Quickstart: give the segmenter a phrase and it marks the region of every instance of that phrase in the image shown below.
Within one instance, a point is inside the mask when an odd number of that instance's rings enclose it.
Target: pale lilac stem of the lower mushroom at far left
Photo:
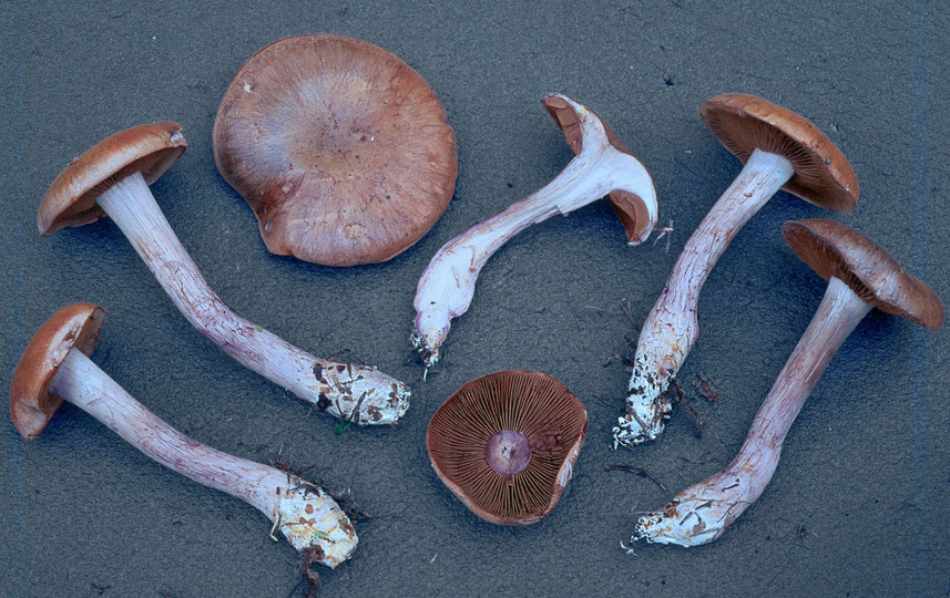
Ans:
[[[336,567],[356,548],[356,532],[349,518],[323,489],[185,436],[135,401],[81,351],[70,350],[50,391],[162,465],[247,502],[308,558]]]

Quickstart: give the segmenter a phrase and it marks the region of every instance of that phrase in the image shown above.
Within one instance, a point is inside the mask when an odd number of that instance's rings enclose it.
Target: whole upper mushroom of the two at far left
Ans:
[[[123,131],[53,181],[37,217],[43,236],[109,215],[187,320],[227,354],[318,409],[359,425],[394,423],[409,390],[372,367],[316,358],[237,316],[208,287],[149,184],[185,151],[177,123]]]

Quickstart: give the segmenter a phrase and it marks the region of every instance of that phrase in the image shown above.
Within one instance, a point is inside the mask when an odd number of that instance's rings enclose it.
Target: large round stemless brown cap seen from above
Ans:
[[[267,249],[327,266],[402,252],[446,210],[458,174],[432,89],[391,52],[341,35],[254,54],[224,94],[213,146]]]

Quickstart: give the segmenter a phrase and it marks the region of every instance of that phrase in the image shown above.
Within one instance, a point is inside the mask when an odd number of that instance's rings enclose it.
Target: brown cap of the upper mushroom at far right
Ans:
[[[854,168],[818,127],[798,114],[755,95],[726,93],[699,104],[699,115],[743,163],[756,148],[791,162],[795,174],[784,190],[834,212],[855,210]]]

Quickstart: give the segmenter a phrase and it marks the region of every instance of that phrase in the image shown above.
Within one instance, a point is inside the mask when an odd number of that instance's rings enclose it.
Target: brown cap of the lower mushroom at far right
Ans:
[[[937,330],[943,324],[937,293],[854,228],[815,218],[785,223],[782,234],[795,255],[825,280],[835,277],[868,303],[920,326]]]

